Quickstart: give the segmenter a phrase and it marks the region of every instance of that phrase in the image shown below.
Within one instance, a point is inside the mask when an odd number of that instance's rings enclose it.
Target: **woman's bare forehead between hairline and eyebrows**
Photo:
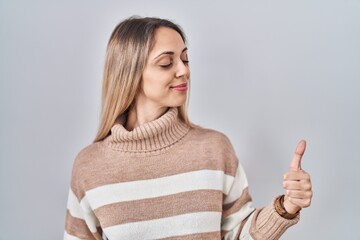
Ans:
[[[159,27],[155,30],[154,45],[150,55],[163,51],[181,52],[185,43],[180,34],[172,28]]]

